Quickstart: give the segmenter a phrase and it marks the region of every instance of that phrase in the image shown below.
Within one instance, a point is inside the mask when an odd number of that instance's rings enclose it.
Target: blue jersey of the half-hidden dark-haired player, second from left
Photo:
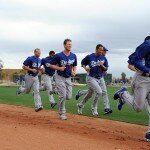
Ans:
[[[55,70],[50,68],[52,57],[48,56],[42,59],[42,65],[45,68],[45,74],[49,76],[53,76],[55,74]]]

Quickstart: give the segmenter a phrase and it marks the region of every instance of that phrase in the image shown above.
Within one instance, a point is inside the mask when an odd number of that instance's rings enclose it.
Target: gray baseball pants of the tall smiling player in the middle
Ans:
[[[71,77],[65,78],[58,74],[55,76],[57,92],[59,95],[59,114],[66,113],[65,101],[72,97]]]

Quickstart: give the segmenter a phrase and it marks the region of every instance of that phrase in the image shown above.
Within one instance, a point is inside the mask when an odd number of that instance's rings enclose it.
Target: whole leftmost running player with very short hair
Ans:
[[[23,69],[27,71],[25,75],[25,87],[19,87],[16,91],[16,94],[21,93],[28,94],[33,88],[34,91],[34,104],[35,111],[38,112],[43,109],[41,96],[39,94],[39,78],[38,73],[41,69],[41,55],[40,49],[36,48],[34,50],[34,56],[28,57],[23,63]]]

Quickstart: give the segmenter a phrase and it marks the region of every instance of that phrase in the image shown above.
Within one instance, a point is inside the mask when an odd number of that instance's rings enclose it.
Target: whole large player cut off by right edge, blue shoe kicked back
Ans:
[[[132,95],[123,87],[114,94],[114,100],[118,100],[119,110],[127,103],[136,112],[140,112],[146,105],[149,128],[145,140],[150,141],[150,36],[146,37],[145,41],[136,48],[128,62],[128,67],[136,71],[132,81]]]

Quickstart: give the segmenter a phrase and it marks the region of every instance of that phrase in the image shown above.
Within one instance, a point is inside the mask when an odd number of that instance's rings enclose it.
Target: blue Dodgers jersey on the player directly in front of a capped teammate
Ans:
[[[87,55],[81,62],[83,66],[89,66],[90,72],[89,76],[100,79],[104,76],[104,71],[100,68],[100,62],[104,62],[104,66],[108,68],[108,61],[105,56],[96,56],[95,53]]]

